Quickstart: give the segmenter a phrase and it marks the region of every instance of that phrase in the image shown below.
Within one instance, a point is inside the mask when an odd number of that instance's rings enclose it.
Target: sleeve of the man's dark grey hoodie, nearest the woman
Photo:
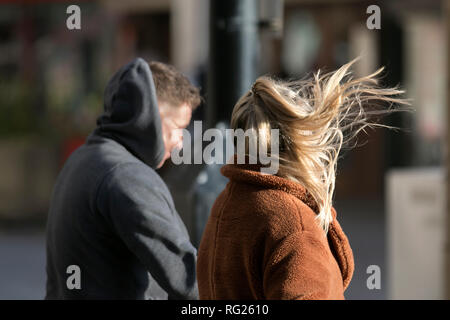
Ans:
[[[198,299],[196,249],[152,169],[143,164],[113,169],[99,186],[97,208],[169,299]]]

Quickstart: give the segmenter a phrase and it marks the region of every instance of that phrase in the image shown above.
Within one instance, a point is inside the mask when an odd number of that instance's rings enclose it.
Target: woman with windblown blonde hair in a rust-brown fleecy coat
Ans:
[[[353,63],[307,80],[260,77],[235,105],[231,127],[254,130],[269,153],[279,133],[279,169],[222,167],[230,181],[198,251],[201,299],[344,299],[354,260],[332,206],[339,152],[406,104],[378,85],[382,69],[354,79]]]

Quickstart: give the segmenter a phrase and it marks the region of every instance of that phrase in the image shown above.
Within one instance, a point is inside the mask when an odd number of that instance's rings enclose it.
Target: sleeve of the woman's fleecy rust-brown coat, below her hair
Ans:
[[[298,231],[279,241],[264,268],[267,299],[325,299],[330,289],[326,249],[317,235]]]

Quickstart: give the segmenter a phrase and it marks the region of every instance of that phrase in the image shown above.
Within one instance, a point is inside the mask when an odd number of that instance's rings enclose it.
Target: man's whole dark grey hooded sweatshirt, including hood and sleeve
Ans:
[[[69,157],[47,222],[46,299],[197,299],[196,249],[167,186],[147,62],[122,67],[104,113]]]

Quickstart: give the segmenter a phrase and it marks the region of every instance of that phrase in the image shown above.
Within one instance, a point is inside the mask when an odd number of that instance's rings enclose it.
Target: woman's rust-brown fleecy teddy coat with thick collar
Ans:
[[[353,253],[336,220],[325,232],[303,186],[225,165],[230,179],[214,203],[198,251],[200,299],[344,299]]]

